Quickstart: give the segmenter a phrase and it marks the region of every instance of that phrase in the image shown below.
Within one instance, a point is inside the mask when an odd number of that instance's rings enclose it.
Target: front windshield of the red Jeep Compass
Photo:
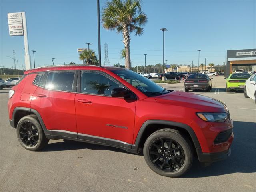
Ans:
[[[155,96],[166,94],[170,91],[162,88],[158,84],[148,80],[147,78],[133,72],[131,70],[112,70],[114,74],[117,74],[122,79],[126,80],[140,92],[144,93],[146,96]]]

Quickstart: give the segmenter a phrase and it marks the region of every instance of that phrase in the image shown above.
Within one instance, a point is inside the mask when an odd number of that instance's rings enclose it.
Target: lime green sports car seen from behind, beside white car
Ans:
[[[232,90],[244,90],[246,80],[250,78],[248,73],[233,73],[228,76],[226,81],[226,92]]]

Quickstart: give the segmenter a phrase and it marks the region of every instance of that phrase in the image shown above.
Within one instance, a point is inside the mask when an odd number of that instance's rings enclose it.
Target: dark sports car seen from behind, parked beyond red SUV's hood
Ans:
[[[205,74],[192,74],[185,80],[185,91],[188,90],[207,90],[212,89],[212,78]]]

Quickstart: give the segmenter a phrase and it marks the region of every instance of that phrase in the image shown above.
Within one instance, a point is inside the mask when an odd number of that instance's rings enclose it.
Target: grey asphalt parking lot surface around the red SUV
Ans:
[[[184,91],[183,82],[162,86]],[[231,156],[205,168],[194,159],[182,178],[160,176],[141,154],[112,147],[50,140],[39,152],[25,150],[9,124],[9,89],[0,90],[0,191],[256,191],[256,105],[243,92],[226,93],[223,76],[214,77],[211,92],[193,92],[228,106]]]

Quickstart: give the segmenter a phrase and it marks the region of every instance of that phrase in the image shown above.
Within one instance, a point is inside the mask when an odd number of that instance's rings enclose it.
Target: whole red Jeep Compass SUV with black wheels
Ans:
[[[48,66],[28,70],[9,92],[10,124],[20,144],[83,141],[139,153],[156,173],[178,177],[193,156],[212,163],[230,155],[233,122],[218,100],[166,90],[123,68]]]

